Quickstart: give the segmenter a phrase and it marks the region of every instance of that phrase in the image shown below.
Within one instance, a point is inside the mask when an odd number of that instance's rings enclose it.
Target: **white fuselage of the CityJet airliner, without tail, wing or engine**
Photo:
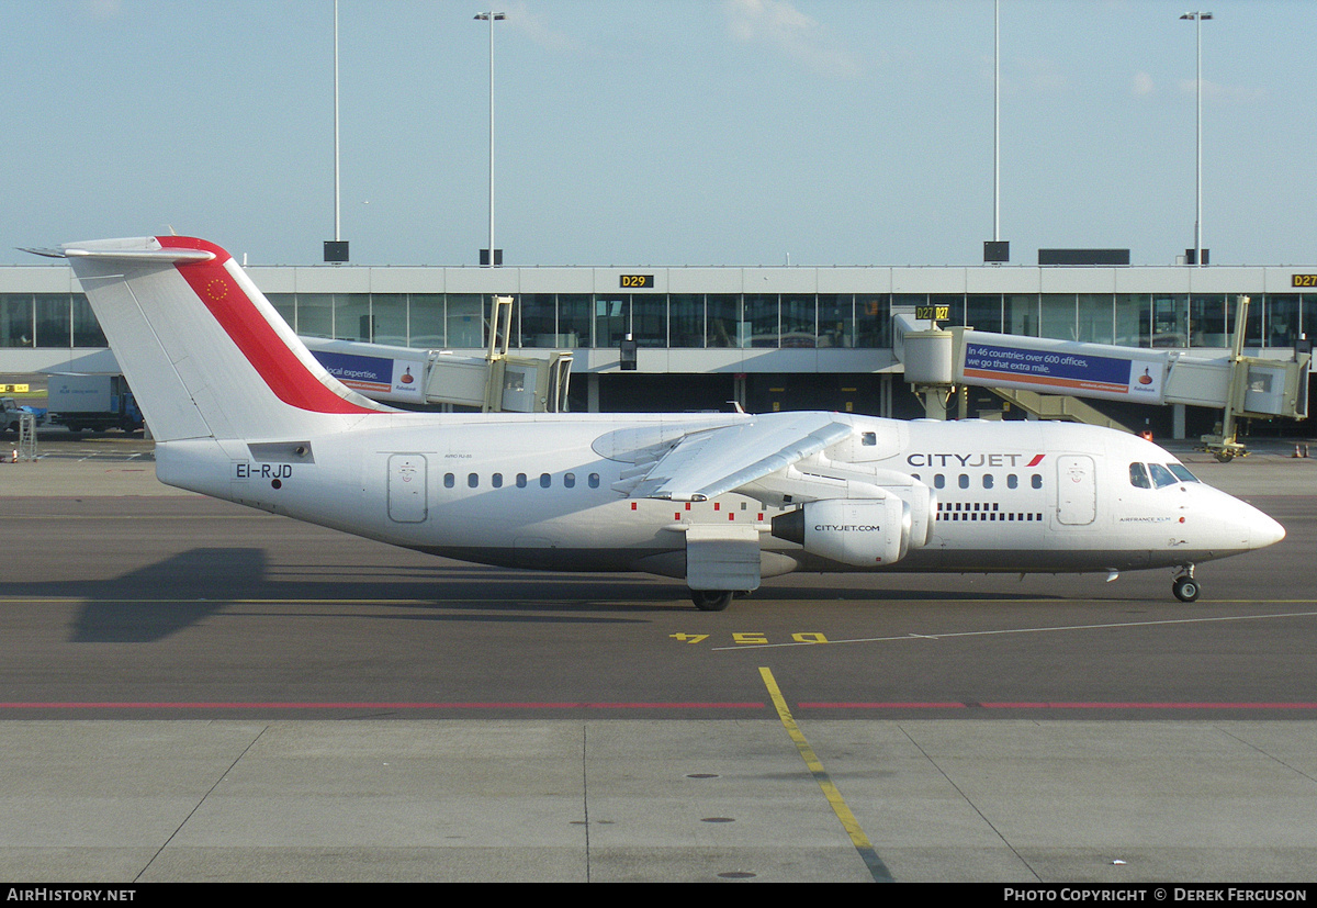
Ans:
[[[1283,535],[1250,505],[1169,473],[1183,470],[1179,461],[1134,436],[1062,423],[834,418],[853,435],[827,449],[822,472],[906,474],[935,497],[927,542],[876,569],[1129,571],[1223,557]],[[681,502],[618,490],[633,451],[744,419],[371,414],[321,438],[161,443],[157,460],[171,485],[465,561],[685,576],[684,531],[710,525],[760,531],[764,576],[857,569],[772,535],[773,518],[799,499]]]

